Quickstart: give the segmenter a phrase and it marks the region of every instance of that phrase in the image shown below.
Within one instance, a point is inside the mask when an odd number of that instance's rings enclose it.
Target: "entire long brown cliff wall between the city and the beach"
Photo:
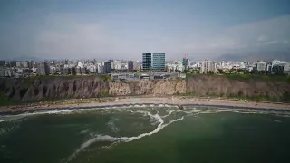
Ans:
[[[188,80],[140,80],[110,82],[98,77],[50,77],[0,79],[0,102],[43,101],[120,95],[222,96],[289,101],[290,84],[269,79],[230,79],[226,76],[197,75]]]

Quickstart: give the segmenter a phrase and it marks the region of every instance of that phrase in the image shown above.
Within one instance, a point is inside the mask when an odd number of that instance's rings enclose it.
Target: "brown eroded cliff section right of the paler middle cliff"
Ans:
[[[187,92],[200,96],[260,96],[279,100],[290,93],[290,84],[263,79],[233,80],[225,76],[198,75],[189,78]]]

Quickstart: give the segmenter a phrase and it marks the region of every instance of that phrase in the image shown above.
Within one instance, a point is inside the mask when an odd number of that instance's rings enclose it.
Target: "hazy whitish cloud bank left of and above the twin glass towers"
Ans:
[[[53,58],[140,59],[143,52],[177,52],[179,39],[123,28],[111,21],[75,21],[74,15],[50,15],[48,27],[36,34],[34,53]],[[120,20],[117,20],[120,23]],[[69,24],[69,25],[68,25]]]

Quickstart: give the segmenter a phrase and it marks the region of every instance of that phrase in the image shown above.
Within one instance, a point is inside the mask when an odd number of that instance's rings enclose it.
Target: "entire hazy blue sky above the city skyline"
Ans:
[[[146,52],[290,55],[290,1],[0,1],[0,59],[140,60]]]

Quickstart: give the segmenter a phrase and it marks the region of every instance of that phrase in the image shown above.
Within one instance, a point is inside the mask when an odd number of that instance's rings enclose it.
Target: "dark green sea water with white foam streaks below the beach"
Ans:
[[[290,118],[200,110],[143,107],[11,117],[0,122],[0,162],[290,162]]]

